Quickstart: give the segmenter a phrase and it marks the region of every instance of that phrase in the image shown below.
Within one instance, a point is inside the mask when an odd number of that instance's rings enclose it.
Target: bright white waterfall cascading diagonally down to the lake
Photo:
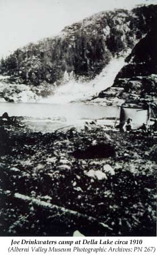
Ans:
[[[97,96],[101,90],[107,89],[113,85],[113,81],[125,64],[125,57],[114,58],[103,69],[103,71],[91,81],[76,81],[71,77],[66,84],[58,86],[54,95],[48,98],[42,98],[41,103],[66,104],[71,101],[88,100]]]

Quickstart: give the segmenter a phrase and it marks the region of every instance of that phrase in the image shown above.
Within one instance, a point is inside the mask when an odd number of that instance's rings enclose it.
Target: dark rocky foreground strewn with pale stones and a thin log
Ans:
[[[1,124],[1,235],[156,236],[157,138],[85,128]]]

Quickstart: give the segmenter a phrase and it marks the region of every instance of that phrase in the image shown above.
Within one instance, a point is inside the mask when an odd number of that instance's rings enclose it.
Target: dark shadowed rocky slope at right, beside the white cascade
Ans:
[[[99,94],[100,98],[124,99],[157,96],[157,35],[151,30],[135,45],[126,58],[126,65],[117,74],[112,88]]]

